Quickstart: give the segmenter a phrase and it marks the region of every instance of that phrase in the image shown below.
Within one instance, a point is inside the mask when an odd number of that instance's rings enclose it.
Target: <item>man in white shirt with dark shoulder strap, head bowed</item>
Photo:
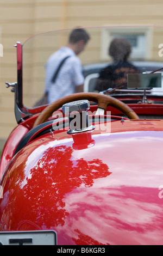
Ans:
[[[90,36],[85,29],[75,28],[69,35],[67,45],[49,57],[45,66],[45,95],[48,103],[66,95],[83,92],[82,63],[77,56],[84,51],[89,40]]]

